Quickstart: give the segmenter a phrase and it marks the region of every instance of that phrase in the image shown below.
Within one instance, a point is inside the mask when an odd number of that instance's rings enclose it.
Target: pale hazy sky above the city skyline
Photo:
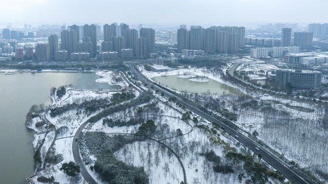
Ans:
[[[326,0],[0,0],[7,24],[325,22]]]

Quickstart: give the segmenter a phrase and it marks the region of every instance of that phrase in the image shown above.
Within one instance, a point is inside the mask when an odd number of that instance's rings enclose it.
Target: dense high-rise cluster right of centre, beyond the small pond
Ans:
[[[182,50],[203,50],[206,54],[236,53],[245,45],[245,27],[191,26],[182,25],[178,30],[178,52]]]

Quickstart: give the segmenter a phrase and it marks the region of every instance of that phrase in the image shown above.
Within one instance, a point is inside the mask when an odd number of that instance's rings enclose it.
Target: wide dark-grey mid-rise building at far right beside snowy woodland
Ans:
[[[280,69],[276,70],[276,84],[285,87],[287,83],[294,88],[317,88],[321,85],[321,72]]]

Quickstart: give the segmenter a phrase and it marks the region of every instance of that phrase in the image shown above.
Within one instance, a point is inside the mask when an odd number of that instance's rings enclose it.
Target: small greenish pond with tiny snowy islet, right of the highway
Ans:
[[[177,75],[157,76],[154,81],[177,91],[187,91],[188,93],[210,94],[210,95],[242,95],[238,89],[226,84],[208,79],[208,82],[189,81],[187,78],[180,78]]]

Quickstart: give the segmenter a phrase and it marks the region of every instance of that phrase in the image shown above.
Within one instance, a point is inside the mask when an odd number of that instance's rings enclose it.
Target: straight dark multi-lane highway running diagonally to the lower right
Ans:
[[[136,70],[136,68],[132,64],[130,64],[130,69],[131,69],[132,73],[135,73],[137,75],[138,79],[141,82],[147,83],[148,86],[153,85],[153,82],[151,82],[149,79],[145,78],[138,70]],[[213,117],[211,114],[208,114],[207,112],[204,112],[203,110],[195,107],[190,102],[180,98],[177,95],[174,95],[174,94],[170,93],[170,91],[168,91],[166,89],[163,89],[162,87],[159,87],[157,85],[158,84],[154,85],[154,89],[159,90],[160,93],[164,93],[164,95],[166,97],[168,97],[168,98],[175,97],[177,99],[177,101],[180,104],[184,105],[187,109],[199,114],[200,116],[202,116],[203,118],[205,118],[209,122],[219,123],[220,126],[224,126],[225,131],[227,131],[227,133],[231,133],[232,136],[235,137],[235,135],[237,135],[238,136],[238,139],[236,139],[237,141],[239,141],[244,146],[251,149],[254,153],[261,154],[262,159],[265,160],[265,162],[267,162],[273,168],[275,168],[276,170],[281,172],[287,179],[294,180],[296,183],[311,183],[310,181],[307,181],[306,178],[303,178],[300,175],[300,173],[298,173],[293,168],[286,165],[277,156],[275,156],[274,154],[267,151],[263,146],[259,145],[254,140],[252,140],[249,137],[245,136],[243,133],[240,133],[241,131],[239,132],[236,128],[232,127],[231,125],[222,122],[221,120]],[[256,147],[259,148],[259,151],[255,149]]]

